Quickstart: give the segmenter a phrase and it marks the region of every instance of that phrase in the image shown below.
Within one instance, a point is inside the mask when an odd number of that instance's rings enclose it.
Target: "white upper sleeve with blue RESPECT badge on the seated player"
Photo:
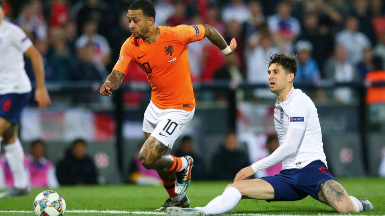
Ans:
[[[293,105],[293,104],[292,104]],[[305,129],[307,118],[310,114],[310,106],[307,101],[301,103],[301,105],[294,104],[295,106],[289,111],[289,126],[288,128]]]

